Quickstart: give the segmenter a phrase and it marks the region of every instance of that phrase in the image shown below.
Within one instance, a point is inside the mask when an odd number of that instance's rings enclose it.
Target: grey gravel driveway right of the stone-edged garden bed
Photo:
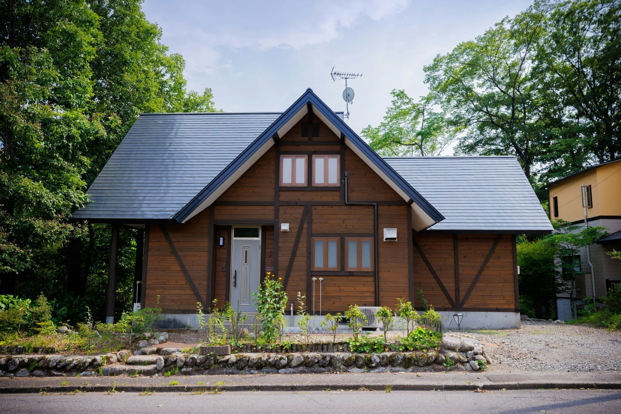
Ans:
[[[521,329],[468,331],[495,360],[490,371],[621,371],[621,332],[522,321]]]

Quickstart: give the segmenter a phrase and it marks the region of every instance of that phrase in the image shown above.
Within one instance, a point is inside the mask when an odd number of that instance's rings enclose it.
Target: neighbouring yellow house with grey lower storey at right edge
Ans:
[[[582,186],[586,187],[586,220],[589,226],[607,228],[609,236],[590,246],[591,263],[595,275],[595,295],[601,299],[613,284],[621,284],[621,260],[612,259],[606,251],[621,250],[621,159],[597,164],[576,174],[548,184],[550,219],[559,218],[573,224],[584,223]],[[587,263],[586,249],[580,254],[581,274],[576,279],[575,297],[592,296],[591,267]],[[568,295],[559,295],[560,299]],[[564,313],[559,305],[559,317]],[[566,305],[568,307],[568,304]]]

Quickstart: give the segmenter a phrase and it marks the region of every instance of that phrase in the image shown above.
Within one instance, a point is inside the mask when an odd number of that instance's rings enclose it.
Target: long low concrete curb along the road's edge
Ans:
[[[468,391],[468,390],[527,390],[527,389],[621,389],[621,382],[496,382],[492,384],[235,384],[235,385],[47,385],[42,387],[0,387],[0,394],[70,393],[75,392],[209,392],[219,389],[234,391],[322,391],[369,390],[384,391]]]

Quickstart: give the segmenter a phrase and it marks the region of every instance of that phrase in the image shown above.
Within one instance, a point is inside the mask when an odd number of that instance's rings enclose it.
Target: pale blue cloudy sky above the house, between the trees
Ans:
[[[378,125],[392,89],[427,94],[423,66],[474,39],[532,0],[206,1],[145,0],[161,42],[186,60],[188,88],[211,88],[226,112],[283,111],[305,90],[345,110],[345,81],[362,73],[348,124]],[[449,148],[448,154],[452,151]]]

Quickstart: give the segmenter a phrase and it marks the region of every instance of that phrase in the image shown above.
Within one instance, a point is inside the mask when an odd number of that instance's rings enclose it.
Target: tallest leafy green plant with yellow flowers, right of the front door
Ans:
[[[267,343],[275,343],[283,336],[284,310],[287,307],[287,294],[281,278],[276,279],[268,272],[263,284],[252,295],[258,312],[257,318],[262,325],[263,338]]]

